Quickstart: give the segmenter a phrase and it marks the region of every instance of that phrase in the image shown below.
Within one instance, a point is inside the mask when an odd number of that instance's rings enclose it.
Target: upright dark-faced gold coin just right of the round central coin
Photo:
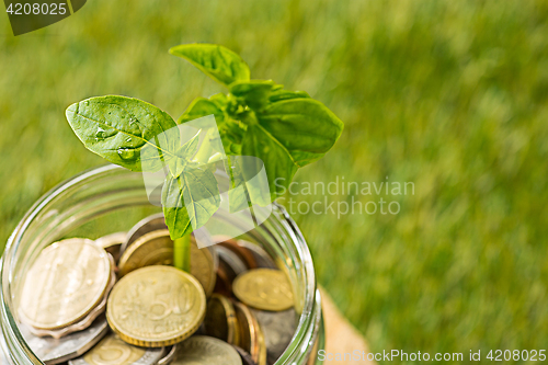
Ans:
[[[226,297],[214,294],[207,301],[207,311],[204,319],[206,334],[228,342],[239,343],[239,331],[232,303]]]

